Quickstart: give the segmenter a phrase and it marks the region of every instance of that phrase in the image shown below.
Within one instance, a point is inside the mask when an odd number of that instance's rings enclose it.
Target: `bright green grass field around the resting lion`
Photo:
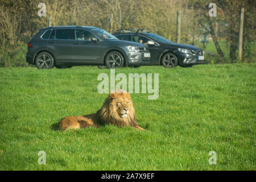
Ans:
[[[53,131],[68,115],[95,113],[107,94],[99,73],[73,67],[0,68],[0,170],[255,170],[256,64],[122,68],[159,73],[159,98],[131,94],[130,127]],[[46,152],[46,165],[38,152]],[[217,164],[208,155],[216,151]]]

